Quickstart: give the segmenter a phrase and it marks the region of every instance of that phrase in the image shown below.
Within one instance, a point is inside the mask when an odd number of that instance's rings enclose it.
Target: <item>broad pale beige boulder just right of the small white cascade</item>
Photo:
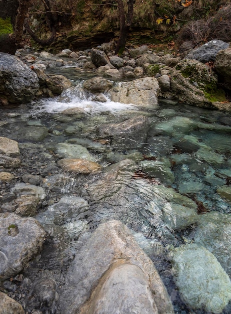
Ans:
[[[112,87],[109,91],[112,101],[140,106],[150,106],[155,109],[158,105],[160,88],[154,77],[144,77],[131,82],[123,82]]]

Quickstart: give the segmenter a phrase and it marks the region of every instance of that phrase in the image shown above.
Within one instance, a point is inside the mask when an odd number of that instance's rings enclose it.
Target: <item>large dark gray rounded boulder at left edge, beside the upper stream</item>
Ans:
[[[39,89],[37,75],[15,56],[0,53],[0,98],[28,102]]]

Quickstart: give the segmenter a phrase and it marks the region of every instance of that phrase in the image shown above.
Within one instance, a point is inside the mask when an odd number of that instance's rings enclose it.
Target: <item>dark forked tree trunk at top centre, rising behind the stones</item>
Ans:
[[[134,0],[128,0],[128,9],[127,9],[126,19],[125,19],[125,12],[124,12],[124,6],[123,6],[122,0],[117,0],[117,3],[118,3],[118,11],[119,11],[120,34],[119,34],[117,46],[115,48],[115,54],[120,55],[124,51],[128,31],[132,23]]]

